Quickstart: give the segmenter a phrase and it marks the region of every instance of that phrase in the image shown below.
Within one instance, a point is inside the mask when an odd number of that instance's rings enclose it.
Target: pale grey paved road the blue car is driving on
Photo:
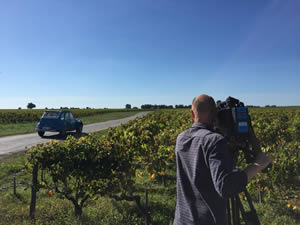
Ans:
[[[102,123],[84,125],[83,133],[87,134],[95,131],[105,130],[109,127],[115,127],[122,123],[126,123],[129,120],[133,120],[137,117],[142,117],[147,113],[148,112],[141,112],[135,116],[131,116],[119,120],[110,120]],[[44,138],[40,138],[37,133],[2,137],[0,138],[0,158],[6,157],[16,152],[25,151],[25,146],[31,147],[38,143],[45,143],[50,139],[61,140],[59,135],[57,135],[56,133],[48,133],[48,134],[46,133]]]

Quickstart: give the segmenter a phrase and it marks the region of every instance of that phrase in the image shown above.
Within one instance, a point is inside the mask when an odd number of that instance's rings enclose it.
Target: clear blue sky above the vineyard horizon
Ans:
[[[0,0],[0,108],[300,105],[298,0]]]

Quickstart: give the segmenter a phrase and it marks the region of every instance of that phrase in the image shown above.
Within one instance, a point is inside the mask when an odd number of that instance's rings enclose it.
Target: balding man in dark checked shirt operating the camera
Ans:
[[[261,152],[246,169],[234,170],[225,138],[213,130],[217,114],[214,99],[204,94],[195,97],[191,113],[193,126],[176,141],[174,225],[226,225],[227,200],[242,192],[272,160]]]

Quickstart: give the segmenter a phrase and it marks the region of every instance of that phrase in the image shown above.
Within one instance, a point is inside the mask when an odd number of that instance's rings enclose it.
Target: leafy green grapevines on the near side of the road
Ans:
[[[292,221],[287,224],[296,224],[300,221],[300,109],[253,108],[250,115],[262,149],[274,164],[267,173],[255,177],[248,190],[254,202],[264,205],[262,208],[278,208],[280,204],[279,208],[285,209],[283,216]],[[89,206],[105,198],[135,206],[129,222],[123,218],[122,224],[172,224],[176,201],[174,147],[177,135],[192,123],[188,110],[160,110],[109,129],[102,136],[69,137],[64,142],[32,147],[26,153],[26,168],[32,174],[28,214],[39,217],[37,196],[46,190],[52,199],[69,201],[76,216],[85,215]],[[241,168],[245,165],[240,161]],[[158,203],[148,202],[148,191],[155,192],[151,188],[157,184],[160,190],[172,190],[167,209],[155,209]],[[274,215],[279,217],[275,209]],[[262,224],[280,224],[276,216],[263,219]]]

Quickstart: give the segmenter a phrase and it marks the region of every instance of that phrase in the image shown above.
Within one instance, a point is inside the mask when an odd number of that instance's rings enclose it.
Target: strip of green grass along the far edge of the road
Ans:
[[[94,116],[78,118],[82,120],[83,125],[91,123],[105,122],[109,120],[122,119],[130,116],[134,116],[140,111],[129,111],[129,112],[109,112]],[[33,123],[14,123],[14,124],[0,124],[0,137],[17,135],[17,134],[28,134],[33,133],[36,126],[36,122]]]

